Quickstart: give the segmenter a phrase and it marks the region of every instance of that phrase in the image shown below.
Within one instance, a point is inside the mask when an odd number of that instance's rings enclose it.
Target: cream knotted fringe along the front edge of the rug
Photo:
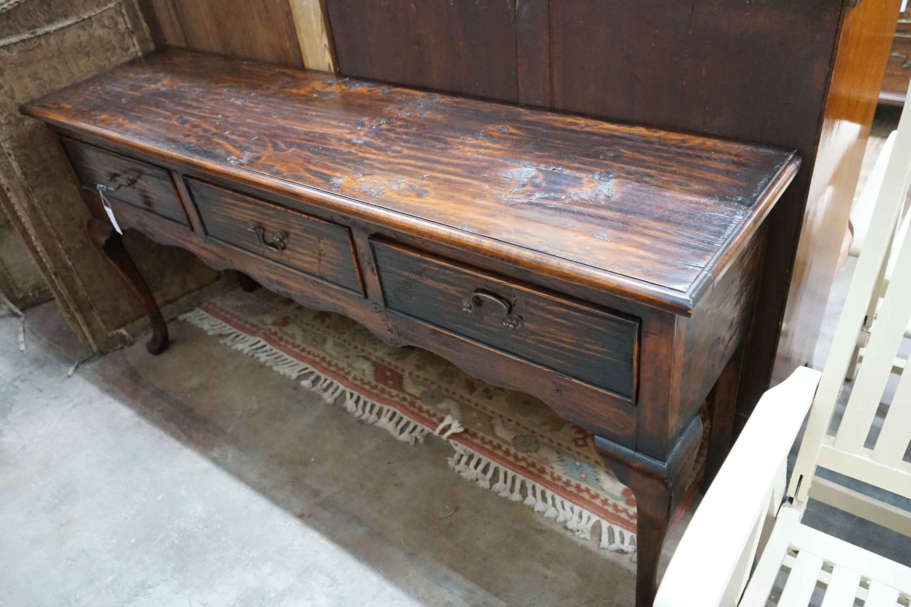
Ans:
[[[307,363],[271,346],[265,339],[235,329],[201,309],[193,309],[181,314],[179,319],[189,322],[209,335],[222,337],[221,343],[259,360],[281,375],[291,379],[302,378],[301,385],[304,388],[320,394],[327,402],[333,402],[343,396],[344,409],[355,419],[384,428],[398,440],[415,444],[415,442],[424,442],[428,434],[448,440],[456,432],[465,430],[462,423],[451,415],[447,415],[445,420],[431,430],[394,407],[369,399],[353,389],[345,388],[335,379],[313,369]],[[600,548],[618,552],[636,551],[635,533],[621,529],[584,508],[564,500],[537,482],[495,463],[455,440],[449,440],[449,444],[455,449],[455,454],[448,459],[449,467],[463,478],[475,481],[484,489],[495,491],[502,498],[521,501],[534,511],[544,514],[548,519],[556,519],[558,522],[564,523],[567,529],[573,531],[578,538],[591,540],[591,531],[596,523],[599,524]]]

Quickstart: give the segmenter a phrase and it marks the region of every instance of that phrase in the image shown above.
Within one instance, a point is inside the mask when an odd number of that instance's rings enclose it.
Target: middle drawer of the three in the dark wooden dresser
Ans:
[[[195,179],[187,187],[210,238],[363,295],[350,229]]]

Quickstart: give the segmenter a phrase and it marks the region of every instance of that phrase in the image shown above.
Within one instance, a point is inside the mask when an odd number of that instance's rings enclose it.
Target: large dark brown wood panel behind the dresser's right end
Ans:
[[[841,5],[550,3],[555,107],[810,156]]]

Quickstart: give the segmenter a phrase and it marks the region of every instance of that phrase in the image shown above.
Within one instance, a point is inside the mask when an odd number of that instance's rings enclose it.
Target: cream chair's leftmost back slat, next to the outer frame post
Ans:
[[[892,373],[892,360],[905,337],[908,319],[911,319],[908,302],[911,302],[911,242],[902,245],[896,261],[895,279],[889,284],[870,329],[864,363],[835,435],[835,449],[860,453],[864,448],[885,382]]]

